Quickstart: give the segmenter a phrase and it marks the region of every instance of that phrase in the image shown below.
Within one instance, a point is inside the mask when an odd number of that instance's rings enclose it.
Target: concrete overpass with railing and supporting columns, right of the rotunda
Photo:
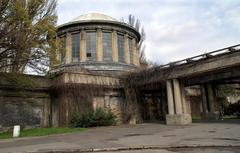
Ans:
[[[166,85],[167,124],[191,123],[190,104],[184,93],[184,87],[191,85],[201,87],[202,117],[215,119],[218,117],[216,84],[240,82],[240,44],[142,70],[131,77],[137,86]]]

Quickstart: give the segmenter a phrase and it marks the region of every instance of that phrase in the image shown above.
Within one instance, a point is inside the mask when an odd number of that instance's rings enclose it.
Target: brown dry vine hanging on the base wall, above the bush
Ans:
[[[82,115],[92,110],[94,97],[103,97],[108,90],[109,88],[103,85],[59,81],[52,91],[59,107],[60,126],[67,125],[73,114]]]

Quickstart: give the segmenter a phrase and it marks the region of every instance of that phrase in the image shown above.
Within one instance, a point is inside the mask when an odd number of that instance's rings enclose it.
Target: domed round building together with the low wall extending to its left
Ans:
[[[122,75],[139,68],[139,32],[100,13],[81,15],[57,27],[59,52],[51,77],[29,77],[37,85],[19,90],[10,77],[0,81],[0,127],[66,126],[74,113],[110,109],[118,123],[126,101]],[[30,81],[31,82],[31,81]]]

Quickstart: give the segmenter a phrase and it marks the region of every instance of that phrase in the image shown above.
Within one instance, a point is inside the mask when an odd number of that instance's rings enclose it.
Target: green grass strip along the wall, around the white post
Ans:
[[[84,131],[86,128],[34,128],[22,130],[20,137],[46,136],[52,134],[70,133]],[[0,139],[12,138],[12,130],[0,133]]]

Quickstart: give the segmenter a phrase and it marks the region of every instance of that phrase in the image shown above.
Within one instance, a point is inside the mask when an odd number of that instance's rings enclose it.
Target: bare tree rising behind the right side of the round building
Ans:
[[[146,67],[148,66],[148,62],[145,56],[145,45],[144,45],[144,41],[146,40],[146,33],[144,31],[144,27],[141,25],[141,22],[139,19],[137,19],[135,16],[133,16],[132,14],[130,14],[128,16],[128,22],[129,25],[131,25],[132,27],[134,27],[141,35],[141,39],[138,43],[138,50],[139,50],[139,62],[140,62],[140,66],[142,67]]]

